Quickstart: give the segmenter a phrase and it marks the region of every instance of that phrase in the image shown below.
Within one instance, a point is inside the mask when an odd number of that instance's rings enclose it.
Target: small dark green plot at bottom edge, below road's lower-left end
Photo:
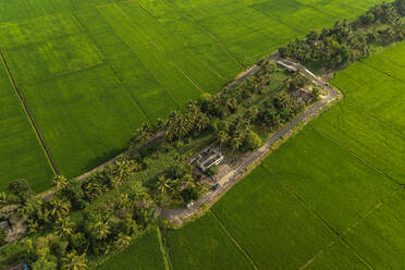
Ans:
[[[173,269],[253,269],[211,212],[179,231],[168,231]]]

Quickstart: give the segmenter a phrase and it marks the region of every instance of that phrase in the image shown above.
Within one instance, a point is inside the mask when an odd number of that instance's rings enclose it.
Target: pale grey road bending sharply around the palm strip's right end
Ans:
[[[293,121],[285,124],[281,130],[273,133],[271,137],[269,138],[269,140],[263,146],[261,146],[259,149],[257,149],[250,156],[248,156],[245,160],[243,160],[243,162],[237,168],[235,168],[234,170],[229,172],[225,176],[220,179],[218,181],[219,187],[216,191],[207,192],[199,200],[194,201],[194,204],[189,206],[188,208],[177,208],[177,209],[158,208],[156,212],[158,216],[169,220],[170,222],[181,223],[182,220],[191,218],[195,213],[197,213],[202,205],[208,205],[208,206],[212,205],[224,193],[226,193],[234,184],[236,184],[240,180],[242,180],[244,176],[244,173],[246,172],[246,169],[250,164],[257,161],[260,161],[260,159],[266,156],[266,154],[270,150],[270,147],[275,142],[278,142],[280,138],[286,135],[290,131],[292,131],[299,123],[306,120],[310,120],[312,115],[326,110],[329,103],[338,99],[339,91],[330,87],[327,83],[324,83],[320,78],[318,78],[314,73],[308,71],[304,65],[292,62],[286,59],[282,59],[278,52],[270,56],[268,60],[271,62],[278,63],[291,71],[299,71],[304,76],[309,78],[315,85],[326,89],[327,95],[320,101],[309,106],[306,111],[300,113]],[[233,81],[228,86],[228,88],[232,88],[238,83],[246,79],[247,77],[254,75],[259,69],[260,69],[260,65],[258,64],[254,65],[253,68],[244,72],[242,75],[240,75],[235,81]]]

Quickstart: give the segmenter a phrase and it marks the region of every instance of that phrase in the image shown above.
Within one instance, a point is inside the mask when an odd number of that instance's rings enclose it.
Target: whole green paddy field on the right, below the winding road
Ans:
[[[340,103],[167,232],[172,268],[403,269],[404,74],[405,42],[340,72]]]

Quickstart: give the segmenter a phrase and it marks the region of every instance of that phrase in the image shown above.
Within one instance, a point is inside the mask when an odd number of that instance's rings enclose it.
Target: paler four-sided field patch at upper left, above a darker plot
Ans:
[[[0,47],[19,85],[34,84],[102,61],[71,13],[2,24]]]

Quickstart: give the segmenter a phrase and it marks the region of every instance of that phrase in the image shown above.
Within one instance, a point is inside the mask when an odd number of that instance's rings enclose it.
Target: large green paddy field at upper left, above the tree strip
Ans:
[[[142,123],[218,91],[279,46],[377,2],[0,0],[0,50],[57,167],[71,177],[120,152]],[[41,192],[53,172],[8,76],[2,63],[0,189],[26,179]],[[380,109],[376,116],[404,127]]]

